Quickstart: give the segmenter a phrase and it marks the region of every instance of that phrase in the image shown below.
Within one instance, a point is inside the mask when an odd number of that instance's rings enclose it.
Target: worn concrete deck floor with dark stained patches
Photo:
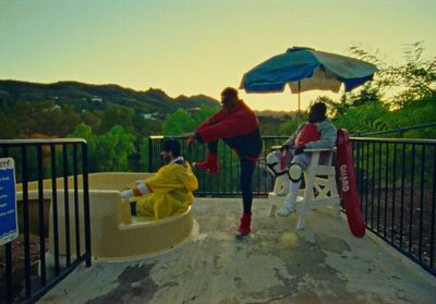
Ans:
[[[76,268],[38,303],[436,303],[436,278],[343,216],[269,216],[253,204],[252,233],[235,238],[241,199],[196,198],[193,236],[131,262]],[[146,244],[144,244],[146,245]]]

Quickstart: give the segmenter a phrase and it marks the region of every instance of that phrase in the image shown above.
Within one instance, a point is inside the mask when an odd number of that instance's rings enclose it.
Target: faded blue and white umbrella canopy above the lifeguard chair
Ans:
[[[311,89],[346,92],[373,80],[374,64],[340,54],[293,47],[275,56],[244,74],[240,88],[246,93],[283,92],[289,84],[292,93]]]

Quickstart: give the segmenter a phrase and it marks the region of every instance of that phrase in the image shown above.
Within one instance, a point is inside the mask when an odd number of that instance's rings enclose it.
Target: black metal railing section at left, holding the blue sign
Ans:
[[[15,162],[20,231],[17,239],[0,247],[4,254],[0,300],[35,302],[83,262],[90,266],[87,145],[84,139],[0,141],[0,156]],[[60,204],[63,212],[58,212]],[[72,228],[70,210],[78,215],[78,208],[84,210],[84,223],[80,227],[76,218]],[[70,239],[75,239],[75,252]]]

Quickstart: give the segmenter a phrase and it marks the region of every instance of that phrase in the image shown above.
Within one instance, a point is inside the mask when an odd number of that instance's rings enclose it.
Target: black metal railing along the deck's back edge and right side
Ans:
[[[149,171],[164,162],[159,157],[162,136],[150,137]],[[265,197],[274,187],[274,177],[265,159],[272,146],[288,137],[264,136],[264,149],[253,179],[253,194]],[[435,268],[436,141],[351,137],[361,207],[368,230],[405,254],[424,269]],[[207,145],[182,154],[191,163],[206,158]],[[196,196],[239,196],[239,161],[222,143],[219,173],[195,171]],[[339,183],[338,183],[339,184]]]

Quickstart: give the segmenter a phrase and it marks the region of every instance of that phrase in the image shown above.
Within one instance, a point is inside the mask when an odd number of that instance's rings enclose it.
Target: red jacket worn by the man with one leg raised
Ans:
[[[201,137],[204,143],[211,143],[222,138],[231,138],[240,135],[250,134],[257,130],[259,123],[256,114],[244,101],[230,109],[230,113],[225,109],[219,110],[207,121],[202,123],[196,130],[196,137]]]

